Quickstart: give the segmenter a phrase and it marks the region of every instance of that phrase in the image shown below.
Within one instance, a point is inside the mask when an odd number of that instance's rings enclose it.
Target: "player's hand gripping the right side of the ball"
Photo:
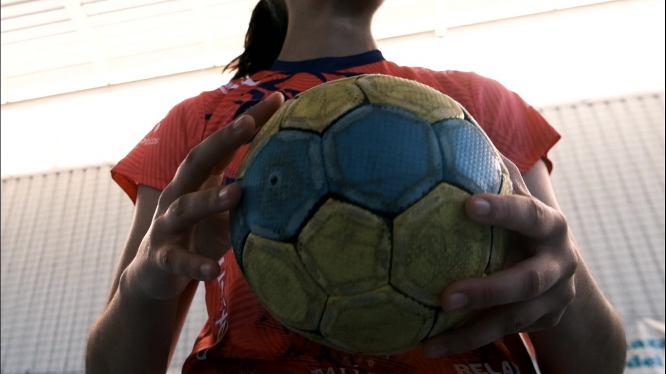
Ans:
[[[555,327],[575,296],[578,257],[567,221],[531,196],[517,167],[503,161],[513,195],[473,195],[465,209],[472,220],[515,231],[520,240],[507,248],[503,271],[446,287],[441,299],[445,311],[478,313],[464,325],[428,339],[424,350],[431,357],[470,351],[512,333]],[[511,258],[517,262],[510,264]]]

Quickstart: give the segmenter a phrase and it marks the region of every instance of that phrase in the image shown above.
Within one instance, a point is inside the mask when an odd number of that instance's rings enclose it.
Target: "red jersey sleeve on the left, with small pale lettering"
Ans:
[[[204,125],[202,97],[182,101],[111,169],[111,177],[133,202],[139,185],[165,189],[178,165],[201,141]]]

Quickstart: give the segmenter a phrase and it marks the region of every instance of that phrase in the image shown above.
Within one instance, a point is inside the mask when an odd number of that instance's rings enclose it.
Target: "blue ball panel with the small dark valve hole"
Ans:
[[[328,192],[319,135],[282,130],[245,171],[242,201],[250,231],[273,240],[294,237]]]

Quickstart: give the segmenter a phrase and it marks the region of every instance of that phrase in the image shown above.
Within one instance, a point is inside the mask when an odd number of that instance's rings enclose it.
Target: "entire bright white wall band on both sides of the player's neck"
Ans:
[[[443,20],[444,22],[444,20]],[[476,71],[533,105],[664,89],[664,2],[618,0],[380,41],[388,59]],[[0,173],[117,161],[174,104],[226,83],[207,69],[2,105]]]

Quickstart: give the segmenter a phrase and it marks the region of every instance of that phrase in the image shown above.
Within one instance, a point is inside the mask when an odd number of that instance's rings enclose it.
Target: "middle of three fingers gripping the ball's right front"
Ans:
[[[445,311],[473,311],[533,299],[556,283],[570,279],[575,265],[549,251],[539,251],[517,265],[478,279],[449,285],[441,295]]]

